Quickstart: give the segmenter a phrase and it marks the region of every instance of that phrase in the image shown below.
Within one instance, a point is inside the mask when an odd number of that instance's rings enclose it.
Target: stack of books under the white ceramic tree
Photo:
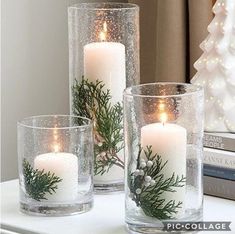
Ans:
[[[235,134],[204,134],[204,193],[235,200]]]

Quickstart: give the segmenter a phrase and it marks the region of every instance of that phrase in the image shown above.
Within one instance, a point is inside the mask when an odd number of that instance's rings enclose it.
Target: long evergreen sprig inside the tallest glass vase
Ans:
[[[113,166],[124,169],[118,157],[123,147],[123,108],[121,103],[111,104],[110,90],[102,81],[91,82],[82,78],[72,86],[74,115],[93,120],[95,140],[95,175],[103,175]]]

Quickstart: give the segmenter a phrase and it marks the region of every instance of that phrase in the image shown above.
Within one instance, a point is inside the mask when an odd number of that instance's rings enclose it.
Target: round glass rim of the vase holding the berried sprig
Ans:
[[[156,85],[181,85],[181,86],[185,86],[185,87],[191,87],[192,90],[189,90],[185,93],[179,93],[179,94],[167,94],[167,95],[148,95],[148,94],[138,94],[138,93],[132,93],[131,90],[134,88],[142,88],[142,87],[153,87]],[[132,96],[132,97],[146,97],[146,98],[170,98],[170,97],[182,97],[182,96],[190,96],[193,94],[197,94],[199,92],[203,92],[203,87],[202,86],[198,86],[198,85],[194,85],[194,84],[190,84],[190,83],[180,83],[180,82],[154,82],[154,83],[146,83],[146,84],[139,84],[139,85],[134,85],[131,87],[127,87],[124,92],[123,92],[123,96]]]

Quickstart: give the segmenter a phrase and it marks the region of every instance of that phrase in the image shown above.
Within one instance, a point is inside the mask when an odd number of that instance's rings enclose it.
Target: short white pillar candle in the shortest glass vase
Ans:
[[[62,179],[55,193],[47,194],[47,201],[69,202],[78,195],[78,158],[74,154],[55,152],[36,156],[34,168],[51,172]],[[46,200],[45,200],[46,201]]]

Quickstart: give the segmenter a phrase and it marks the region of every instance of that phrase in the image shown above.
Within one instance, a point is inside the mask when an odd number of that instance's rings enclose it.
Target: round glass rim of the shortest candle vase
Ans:
[[[74,118],[74,119],[82,119],[86,120],[86,124],[82,125],[74,125],[74,126],[63,126],[63,127],[43,127],[43,126],[33,126],[32,124],[26,123],[28,120],[33,120],[33,119],[43,119],[43,118]],[[52,130],[52,129],[57,129],[57,130],[65,130],[65,129],[77,129],[77,128],[86,128],[86,127],[92,127],[93,121],[89,118],[82,117],[82,116],[76,116],[76,115],[34,115],[34,116],[29,116],[25,117],[22,120],[17,121],[17,126],[25,127],[25,128],[32,128],[32,129],[45,129],[45,130]]]

